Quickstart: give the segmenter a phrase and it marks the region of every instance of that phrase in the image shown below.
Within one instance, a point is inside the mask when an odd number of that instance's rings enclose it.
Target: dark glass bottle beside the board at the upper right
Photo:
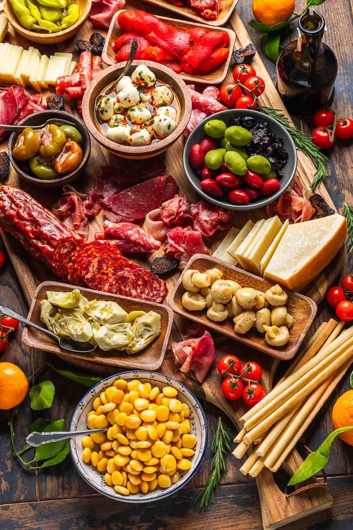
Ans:
[[[333,99],[337,59],[322,42],[327,30],[322,15],[309,7],[298,19],[298,39],[277,61],[277,89],[288,109],[312,114]]]

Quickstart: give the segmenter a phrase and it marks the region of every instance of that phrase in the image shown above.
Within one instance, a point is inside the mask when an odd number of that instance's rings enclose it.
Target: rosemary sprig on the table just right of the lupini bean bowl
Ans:
[[[223,453],[230,451],[231,438],[231,433],[224,429],[222,425],[222,420],[221,418],[219,418],[218,429],[212,441],[213,458],[211,463],[210,476],[207,479],[204,489],[195,500],[196,503],[201,497],[200,510],[202,510],[202,508],[209,510],[210,497],[212,497],[212,502],[214,502],[214,490],[216,490],[216,493],[218,493],[218,485],[221,480],[221,472],[225,470]]]

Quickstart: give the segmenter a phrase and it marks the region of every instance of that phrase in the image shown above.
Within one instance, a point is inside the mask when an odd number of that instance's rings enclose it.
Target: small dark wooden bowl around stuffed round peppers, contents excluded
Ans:
[[[19,165],[19,162],[12,156],[12,148],[16,142],[17,136],[19,136],[20,133],[18,131],[14,131],[11,133],[11,136],[8,139],[8,156],[10,156],[11,164],[13,165],[14,170],[19,173],[21,179],[25,180],[26,182],[30,182],[35,186],[40,186],[41,188],[58,188],[59,186],[73,182],[75,179],[77,179],[79,174],[84,171],[90,155],[90,137],[88,130],[86,129],[82,120],[74,116],[74,114],[70,114],[69,112],[64,112],[62,110],[43,110],[30,114],[30,116],[27,116],[20,121],[18,125],[35,127],[41,125],[41,123],[44,123],[51,118],[60,118],[62,120],[72,121],[76,129],[82,134],[84,141],[82,162],[76,167],[75,171],[71,171],[71,173],[63,175],[60,177],[60,179],[42,180],[37,179],[34,175],[32,176],[32,173],[26,173],[23,170],[23,166]]]

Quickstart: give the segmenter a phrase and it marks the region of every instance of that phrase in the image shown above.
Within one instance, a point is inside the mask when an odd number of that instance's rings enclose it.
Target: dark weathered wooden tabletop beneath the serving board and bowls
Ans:
[[[296,11],[304,6],[301,0],[297,2]],[[336,95],[333,108],[341,117],[352,117],[352,12],[349,0],[334,2],[326,0],[317,9],[325,17],[328,32],[324,40],[336,52],[339,61],[339,72],[336,80]],[[237,10],[243,20],[252,18],[251,1],[240,0]],[[168,16],[168,15],[167,15]],[[257,31],[247,27],[255,45],[259,45]],[[260,49],[260,47],[258,48]],[[259,51],[261,53],[261,51]],[[275,79],[275,66],[265,59],[266,65]],[[297,121],[296,121],[297,122]],[[298,123],[298,122],[297,122]],[[300,119],[300,126],[310,134],[312,119]],[[353,204],[353,179],[351,142],[337,142],[329,154],[330,176],[325,181],[334,204],[341,212],[343,202]],[[348,257],[343,265],[341,277],[352,271],[352,259]],[[11,307],[20,314],[28,313],[19,282],[17,281],[10,260],[7,258],[5,266],[0,271],[1,296],[3,305]],[[321,322],[327,321],[334,313],[324,302],[319,307],[318,316],[313,330]],[[50,359],[45,353],[25,348],[21,342],[22,327],[4,351],[1,360],[11,361],[22,367],[26,374],[52,360],[56,367],[64,367],[57,358]],[[67,366],[67,365],[66,365]],[[338,385],[331,398],[327,401],[318,417],[307,429],[305,438],[312,449],[319,446],[322,440],[332,431],[331,411],[337,397],[349,390],[349,374]],[[87,388],[79,384],[71,384],[53,370],[42,374],[51,379],[56,387],[53,407],[33,415],[29,407],[29,400],[16,419],[16,446],[22,447],[28,427],[33,419],[44,417],[48,419],[65,418],[68,420],[77,402],[85,394]],[[261,530],[261,512],[255,480],[249,475],[244,477],[239,471],[239,461],[227,455],[227,472],[223,474],[221,487],[216,495],[215,503],[209,512],[200,513],[195,499],[201,492],[209,474],[211,463],[211,442],[218,423],[222,417],[227,429],[236,434],[234,426],[223,413],[213,405],[203,402],[202,406],[207,416],[209,427],[209,445],[200,470],[193,479],[173,497],[167,498],[159,504],[139,505],[137,509],[130,504],[112,502],[110,499],[97,494],[78,475],[74,465],[68,457],[64,463],[47,470],[26,471],[13,458],[10,435],[8,432],[8,413],[2,411],[0,415],[0,484],[1,508],[0,530],[115,530],[128,528],[139,530]],[[305,454],[303,454],[305,457]],[[245,457],[244,459],[245,460]],[[323,511],[309,518],[286,526],[288,530],[348,530],[353,528],[353,448],[344,444],[339,438],[334,441],[331,456],[325,468],[328,474],[329,490],[334,497],[331,509]],[[283,472],[284,473],[284,472]],[[277,473],[278,480],[286,483],[282,473]],[[282,480],[281,480],[282,479]],[[275,502],[275,499],[274,499]]]

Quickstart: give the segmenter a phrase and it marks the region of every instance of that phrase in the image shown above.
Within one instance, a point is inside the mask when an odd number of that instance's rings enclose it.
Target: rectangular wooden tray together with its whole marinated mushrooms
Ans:
[[[195,254],[169,297],[189,320],[278,359],[292,359],[315,318],[311,298]]]

